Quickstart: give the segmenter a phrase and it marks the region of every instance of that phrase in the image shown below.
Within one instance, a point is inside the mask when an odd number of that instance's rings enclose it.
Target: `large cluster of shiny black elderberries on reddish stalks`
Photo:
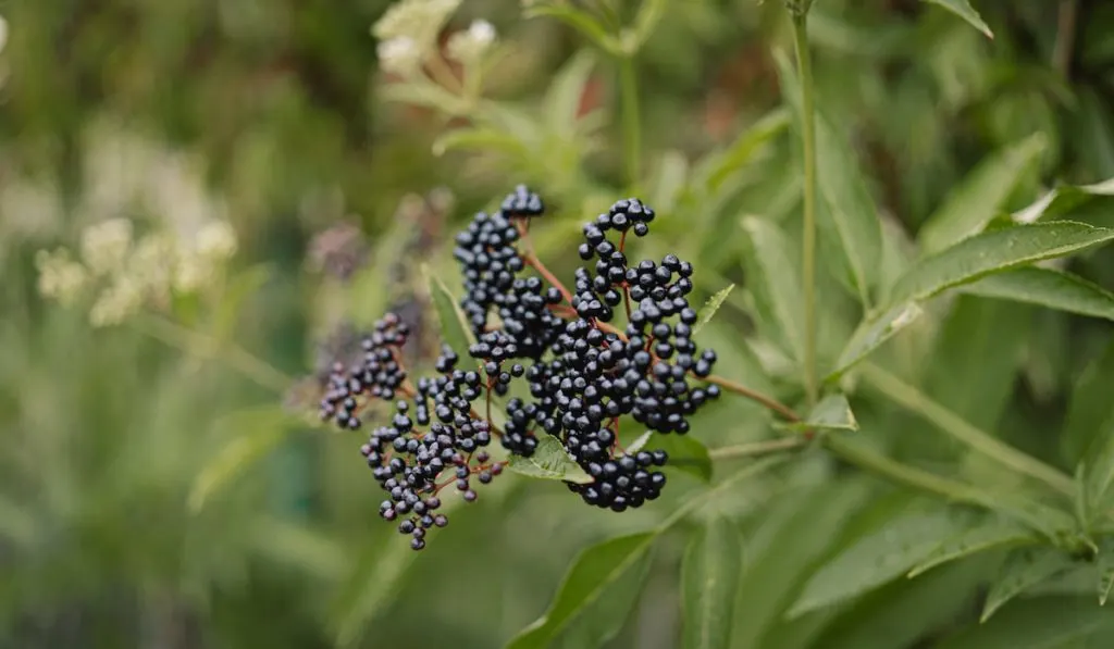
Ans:
[[[410,328],[388,314],[364,337],[362,362],[336,366],[330,377],[321,415],[342,429],[361,427],[370,403],[394,402],[390,423],[375,427],[361,451],[389,495],[380,515],[398,521],[416,550],[430,529],[448,523],[438,512],[444,488],[471,502],[473,481],[502,473],[508,461],[491,458],[492,439],[511,458],[529,458],[543,435],[556,437],[592,478],[568,488],[588,504],[622,512],[661,495],[668,456],[625,451],[620,420],[684,435],[690,417],[720,396],[719,386],[702,381],[715,353],[693,341],[692,264],[675,255],[627,257],[628,233],[648,235],[654,210],[624,199],[585,225],[577,253],[587,265],[576,269],[571,292],[551,284],[525,245],[529,222],[544,214],[538,195],[519,186],[456,236],[460,308],[475,336],[469,362],[444,346],[436,374],[411,382],[400,356]],[[504,403],[516,381],[529,396]],[[501,429],[491,417],[498,407],[506,413]]]

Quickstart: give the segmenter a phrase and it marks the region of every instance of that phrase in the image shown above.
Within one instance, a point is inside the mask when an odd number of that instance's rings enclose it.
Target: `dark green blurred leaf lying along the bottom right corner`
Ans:
[[[936,649],[1066,649],[1081,646],[1073,641],[1082,642],[1110,629],[1112,621],[1110,611],[1096,607],[1088,597],[1022,599],[987,623],[971,625]]]

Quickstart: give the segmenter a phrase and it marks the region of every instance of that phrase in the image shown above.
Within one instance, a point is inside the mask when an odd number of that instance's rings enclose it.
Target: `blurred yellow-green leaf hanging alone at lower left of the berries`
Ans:
[[[189,511],[201,511],[216,491],[277,448],[295,423],[278,405],[245,409],[217,422],[217,432],[228,441],[194,479],[186,501]]]

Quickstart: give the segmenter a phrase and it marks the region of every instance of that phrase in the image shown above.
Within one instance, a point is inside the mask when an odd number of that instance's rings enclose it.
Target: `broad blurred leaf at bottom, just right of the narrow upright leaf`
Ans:
[[[749,542],[735,614],[736,649],[763,649],[781,626],[801,582],[836,543],[872,493],[863,480],[840,480],[774,503]],[[808,619],[808,616],[805,618]],[[786,622],[799,625],[802,619]]]

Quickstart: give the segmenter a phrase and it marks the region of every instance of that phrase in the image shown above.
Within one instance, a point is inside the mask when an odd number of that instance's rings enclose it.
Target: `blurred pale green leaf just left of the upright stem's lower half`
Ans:
[[[789,242],[776,227],[760,218],[744,217],[742,227],[747,247],[743,257],[746,287],[759,316],[765,321],[770,336],[800,361],[804,354],[804,314],[801,278],[791,262]]]

